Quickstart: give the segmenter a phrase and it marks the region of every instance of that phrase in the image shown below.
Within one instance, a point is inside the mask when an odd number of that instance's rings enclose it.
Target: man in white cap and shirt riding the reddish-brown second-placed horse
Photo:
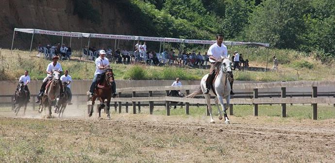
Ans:
[[[93,97],[94,89],[97,87],[98,81],[101,80],[101,76],[104,75],[106,70],[110,68],[109,61],[107,58],[105,58],[106,52],[104,50],[100,50],[99,54],[100,54],[100,57],[95,59],[95,65],[97,69],[94,73],[93,81],[89,89],[90,97]],[[112,92],[113,92],[113,98],[115,98],[117,96],[115,82],[113,82],[113,85],[112,85]]]

